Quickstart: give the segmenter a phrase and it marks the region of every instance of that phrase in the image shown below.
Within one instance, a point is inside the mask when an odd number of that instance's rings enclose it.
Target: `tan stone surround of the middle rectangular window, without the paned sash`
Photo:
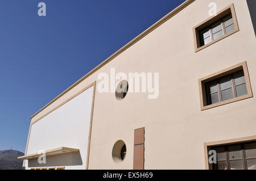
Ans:
[[[205,83],[208,83],[210,81],[214,81],[218,78],[225,77],[226,75],[236,73],[237,71],[243,70],[243,73],[245,75],[245,83],[246,83],[246,88],[247,88],[247,94],[234,97],[232,99],[220,101],[218,103],[214,104],[208,104],[207,102],[207,91],[205,89]],[[250,85],[250,78],[249,78],[249,73],[247,70],[247,64],[246,61],[241,62],[240,64],[231,66],[230,68],[218,71],[217,73],[210,74],[207,77],[203,77],[199,79],[199,96],[200,96],[200,104],[201,104],[201,111],[203,110],[208,110],[209,108],[217,107],[217,106],[222,106],[224,104],[236,102],[238,100],[243,100],[247,98],[253,97],[253,92],[251,91],[251,85]],[[220,96],[220,94],[219,94]]]

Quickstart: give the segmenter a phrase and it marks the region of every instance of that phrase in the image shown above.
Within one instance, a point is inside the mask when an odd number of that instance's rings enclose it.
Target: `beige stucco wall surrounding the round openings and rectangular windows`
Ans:
[[[191,3],[31,121],[97,81],[98,73],[110,73],[110,68],[126,74],[156,72],[158,99],[128,92],[125,99],[116,100],[114,93],[96,89],[89,169],[133,169],[134,129],[141,127],[145,127],[145,169],[205,169],[204,142],[256,135],[254,97],[200,110],[198,79],[242,61],[247,62],[253,95],[256,89],[256,41],[245,0],[214,1],[218,11],[234,3],[240,31],[195,53],[192,27],[209,18],[210,2]],[[126,143],[122,163],[112,159],[117,140]]]

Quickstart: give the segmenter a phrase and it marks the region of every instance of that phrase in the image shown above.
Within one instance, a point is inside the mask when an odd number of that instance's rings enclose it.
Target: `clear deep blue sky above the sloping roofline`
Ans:
[[[1,0],[0,150],[24,153],[30,116],[183,2]]]

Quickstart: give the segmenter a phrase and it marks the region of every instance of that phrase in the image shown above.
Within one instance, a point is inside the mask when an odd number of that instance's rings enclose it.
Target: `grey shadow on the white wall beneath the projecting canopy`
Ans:
[[[46,163],[38,163],[38,158],[30,159],[28,167],[54,167],[82,165],[80,151],[46,157]]]

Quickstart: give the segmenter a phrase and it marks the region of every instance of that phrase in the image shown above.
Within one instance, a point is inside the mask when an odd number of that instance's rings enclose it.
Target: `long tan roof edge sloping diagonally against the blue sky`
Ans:
[[[193,1],[196,0],[187,0],[185,2],[183,2],[181,5],[177,6],[174,10],[172,10],[171,12],[169,12],[167,15],[165,15],[163,18],[161,18],[160,20],[158,20],[158,22],[154,23],[151,27],[147,28],[147,30],[143,31],[141,34],[139,34],[137,37],[135,37],[133,40],[131,40],[129,43],[127,43],[126,45],[124,45],[121,49],[117,50],[117,52],[115,52],[114,54],[112,54],[112,56],[108,57],[105,61],[101,62],[101,64],[99,64],[98,66],[96,66],[96,68],[94,68],[93,70],[89,71],[89,73],[87,73],[86,75],[84,75],[82,78],[80,78],[78,81],[76,81],[75,83],[73,83],[72,86],[68,87],[68,89],[64,90],[60,95],[56,96],[56,98],[54,98],[53,100],[51,100],[51,102],[49,102],[48,104],[46,104],[46,106],[44,106],[43,108],[41,108],[38,112],[34,113],[34,115],[32,115],[30,117],[30,120],[32,120],[33,117],[35,117],[36,115],[38,115],[38,113],[40,113],[41,111],[43,111],[45,108],[47,108],[49,105],[51,105],[53,102],[55,102],[57,99],[59,99],[61,96],[63,96],[65,93],[67,93],[69,90],[73,89],[73,87],[79,85],[79,83],[81,83],[82,81],[84,81],[84,79],[86,79],[87,77],[89,77],[90,75],[92,75],[94,72],[96,72],[98,69],[100,69],[102,66],[108,64],[108,62],[110,62],[111,60],[113,60],[115,57],[117,57],[119,54],[121,54],[123,51],[125,51],[126,49],[128,49],[129,47],[131,47],[131,45],[135,44],[137,41],[141,40],[144,36],[146,36],[148,33],[150,33],[151,31],[155,30],[155,28],[159,27],[161,24],[163,24],[164,22],[166,22],[166,20],[170,19],[172,16],[174,16],[175,14],[177,14],[177,12],[183,10],[185,7],[187,7],[188,5],[190,5]]]

